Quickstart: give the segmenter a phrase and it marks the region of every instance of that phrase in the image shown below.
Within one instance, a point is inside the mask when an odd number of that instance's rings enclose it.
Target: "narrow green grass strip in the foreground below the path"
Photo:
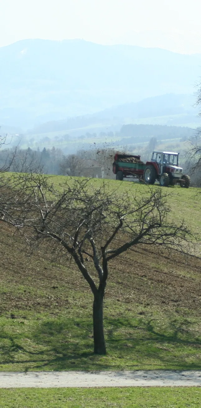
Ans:
[[[200,408],[201,388],[0,390],[2,408]]]

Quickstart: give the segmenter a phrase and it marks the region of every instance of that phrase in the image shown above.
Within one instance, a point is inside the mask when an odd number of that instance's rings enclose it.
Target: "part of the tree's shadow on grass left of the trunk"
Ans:
[[[90,358],[95,357],[93,339],[92,336],[89,337],[91,326],[92,324],[81,319],[44,321],[36,324],[28,336],[31,340],[28,347],[23,345],[22,336],[11,334],[2,328],[0,366],[23,364],[30,369],[46,369],[48,366],[54,370],[90,370]],[[101,368],[106,368],[105,364]]]

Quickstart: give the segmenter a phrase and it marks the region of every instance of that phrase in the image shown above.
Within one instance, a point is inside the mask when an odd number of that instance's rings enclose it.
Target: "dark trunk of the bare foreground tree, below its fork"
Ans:
[[[104,291],[94,295],[93,324],[94,324],[94,354],[106,354],[105,337],[103,330],[103,297]]]

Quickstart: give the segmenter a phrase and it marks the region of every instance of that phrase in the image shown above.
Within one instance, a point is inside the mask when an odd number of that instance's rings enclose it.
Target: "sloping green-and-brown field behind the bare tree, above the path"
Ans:
[[[61,180],[54,177],[55,184]],[[119,193],[146,188],[110,183]],[[185,218],[199,233],[196,190],[165,190],[172,217]],[[58,264],[48,244],[26,256],[15,231],[0,226],[0,370],[201,369],[201,259],[140,246],[111,262],[104,308],[107,355],[97,356],[93,299],[80,272],[68,258]]]

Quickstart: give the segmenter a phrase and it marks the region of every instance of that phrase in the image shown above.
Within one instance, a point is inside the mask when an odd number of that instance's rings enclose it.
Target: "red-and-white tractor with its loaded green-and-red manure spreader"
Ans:
[[[160,186],[180,184],[181,187],[190,186],[190,177],[183,174],[179,167],[179,153],[153,151],[150,162],[143,163],[140,156],[116,153],[113,163],[113,173],[116,180],[133,176],[146,184],[159,181]]]

